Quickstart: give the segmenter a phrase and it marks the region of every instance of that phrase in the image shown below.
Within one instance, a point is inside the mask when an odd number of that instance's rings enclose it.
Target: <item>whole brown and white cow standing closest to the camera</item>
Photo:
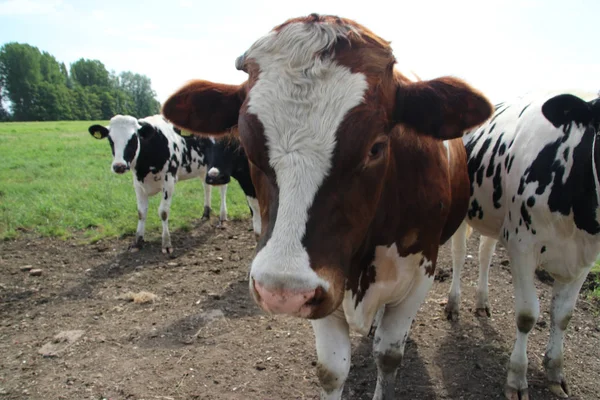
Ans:
[[[411,82],[388,42],[335,16],[288,20],[236,60],[241,85],[193,81],[163,113],[193,132],[238,125],[262,233],[250,292],[312,320],[323,399],[339,399],[349,328],[374,339],[374,398],[394,397],[438,247],[469,198],[463,131],[492,106],[461,80]],[[444,140],[448,140],[444,142]]]

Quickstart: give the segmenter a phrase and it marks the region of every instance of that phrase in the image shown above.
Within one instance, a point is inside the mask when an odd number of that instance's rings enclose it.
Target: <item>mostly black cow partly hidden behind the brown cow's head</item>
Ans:
[[[209,185],[227,185],[233,177],[238,181],[246,195],[250,213],[252,214],[252,229],[260,235],[260,207],[256,198],[256,190],[250,176],[250,166],[244,148],[233,135],[217,140],[206,150],[208,163],[206,183]]]

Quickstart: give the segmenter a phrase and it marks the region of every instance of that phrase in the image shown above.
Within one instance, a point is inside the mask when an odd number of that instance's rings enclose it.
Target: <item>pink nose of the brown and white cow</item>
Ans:
[[[254,290],[260,297],[260,305],[265,311],[300,317],[307,317],[310,314],[312,307],[307,303],[311,303],[316,294],[315,289],[301,292],[289,290],[269,291],[257,281],[254,281]]]

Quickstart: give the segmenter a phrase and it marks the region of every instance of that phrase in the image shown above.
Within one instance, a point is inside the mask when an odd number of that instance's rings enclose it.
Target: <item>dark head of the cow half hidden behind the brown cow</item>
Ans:
[[[215,140],[206,149],[206,161],[206,183],[209,185],[228,184],[236,170],[248,163],[240,142],[231,135]]]

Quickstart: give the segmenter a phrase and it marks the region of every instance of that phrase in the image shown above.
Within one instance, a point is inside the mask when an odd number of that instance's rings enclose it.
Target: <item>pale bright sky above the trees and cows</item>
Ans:
[[[162,102],[193,78],[242,82],[235,58],[312,12],[354,19],[392,42],[401,70],[461,77],[493,102],[600,90],[600,0],[0,0],[0,44],[145,74]]]

